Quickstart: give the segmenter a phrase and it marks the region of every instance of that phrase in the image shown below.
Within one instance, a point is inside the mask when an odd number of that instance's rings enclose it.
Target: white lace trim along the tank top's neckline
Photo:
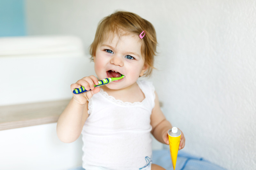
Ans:
[[[113,102],[115,102],[116,104],[119,104],[119,105],[122,105],[122,106],[138,106],[138,105],[142,105],[144,102],[145,102],[145,100],[147,99],[147,96],[146,96],[146,94],[145,94],[145,92],[142,90],[143,88],[141,87],[141,85],[140,85],[140,83],[138,83],[137,82],[137,84],[139,85],[139,87],[140,87],[140,90],[144,93],[144,96],[145,96],[145,98],[140,102],[140,101],[136,101],[136,102],[133,102],[133,103],[131,103],[131,102],[129,102],[129,101],[122,101],[122,100],[119,100],[119,99],[116,99],[116,98],[114,98],[113,96],[110,96],[110,95],[108,95],[108,93],[107,92],[105,92],[103,89],[101,89],[100,88],[100,94],[102,94],[104,97],[106,97],[108,100],[110,100],[110,101],[113,101]],[[89,107],[89,104],[88,104],[88,107]]]

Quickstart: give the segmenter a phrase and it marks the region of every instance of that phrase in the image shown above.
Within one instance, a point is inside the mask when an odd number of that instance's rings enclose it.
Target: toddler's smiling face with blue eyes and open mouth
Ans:
[[[141,53],[139,35],[124,35],[120,38],[109,34],[98,45],[93,58],[99,79],[120,77],[121,74],[125,76],[106,85],[109,89],[124,89],[133,85],[148,68]]]

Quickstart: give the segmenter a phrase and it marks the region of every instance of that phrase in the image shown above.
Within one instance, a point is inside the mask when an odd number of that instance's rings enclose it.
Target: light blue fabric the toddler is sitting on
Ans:
[[[169,150],[153,151],[152,163],[162,166],[166,170],[173,170],[172,160]],[[82,166],[69,170],[84,170]],[[193,156],[184,151],[178,152],[175,170],[226,170],[216,164],[213,164],[201,157]]]

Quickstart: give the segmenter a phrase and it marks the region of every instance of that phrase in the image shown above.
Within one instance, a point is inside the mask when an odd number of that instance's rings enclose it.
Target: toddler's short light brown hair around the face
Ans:
[[[148,65],[145,76],[150,76],[154,69],[154,56],[156,55],[156,31],[150,22],[132,12],[117,11],[100,21],[94,41],[90,46],[91,59],[93,60],[99,43],[108,36],[109,32],[118,36],[122,33],[132,33],[139,36],[142,31],[145,31],[145,36],[141,39],[141,53],[144,56],[145,64]]]

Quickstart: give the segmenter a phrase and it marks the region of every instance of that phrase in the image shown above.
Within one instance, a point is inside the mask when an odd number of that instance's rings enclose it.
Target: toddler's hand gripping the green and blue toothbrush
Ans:
[[[100,87],[94,87],[94,85],[98,84],[98,79],[91,75],[89,77],[84,77],[78,80],[76,83],[70,85],[74,100],[78,104],[84,105],[87,100],[92,98],[93,94],[100,92]],[[74,94],[74,89],[80,88],[81,86],[84,86],[85,90],[91,90],[80,94]]]

